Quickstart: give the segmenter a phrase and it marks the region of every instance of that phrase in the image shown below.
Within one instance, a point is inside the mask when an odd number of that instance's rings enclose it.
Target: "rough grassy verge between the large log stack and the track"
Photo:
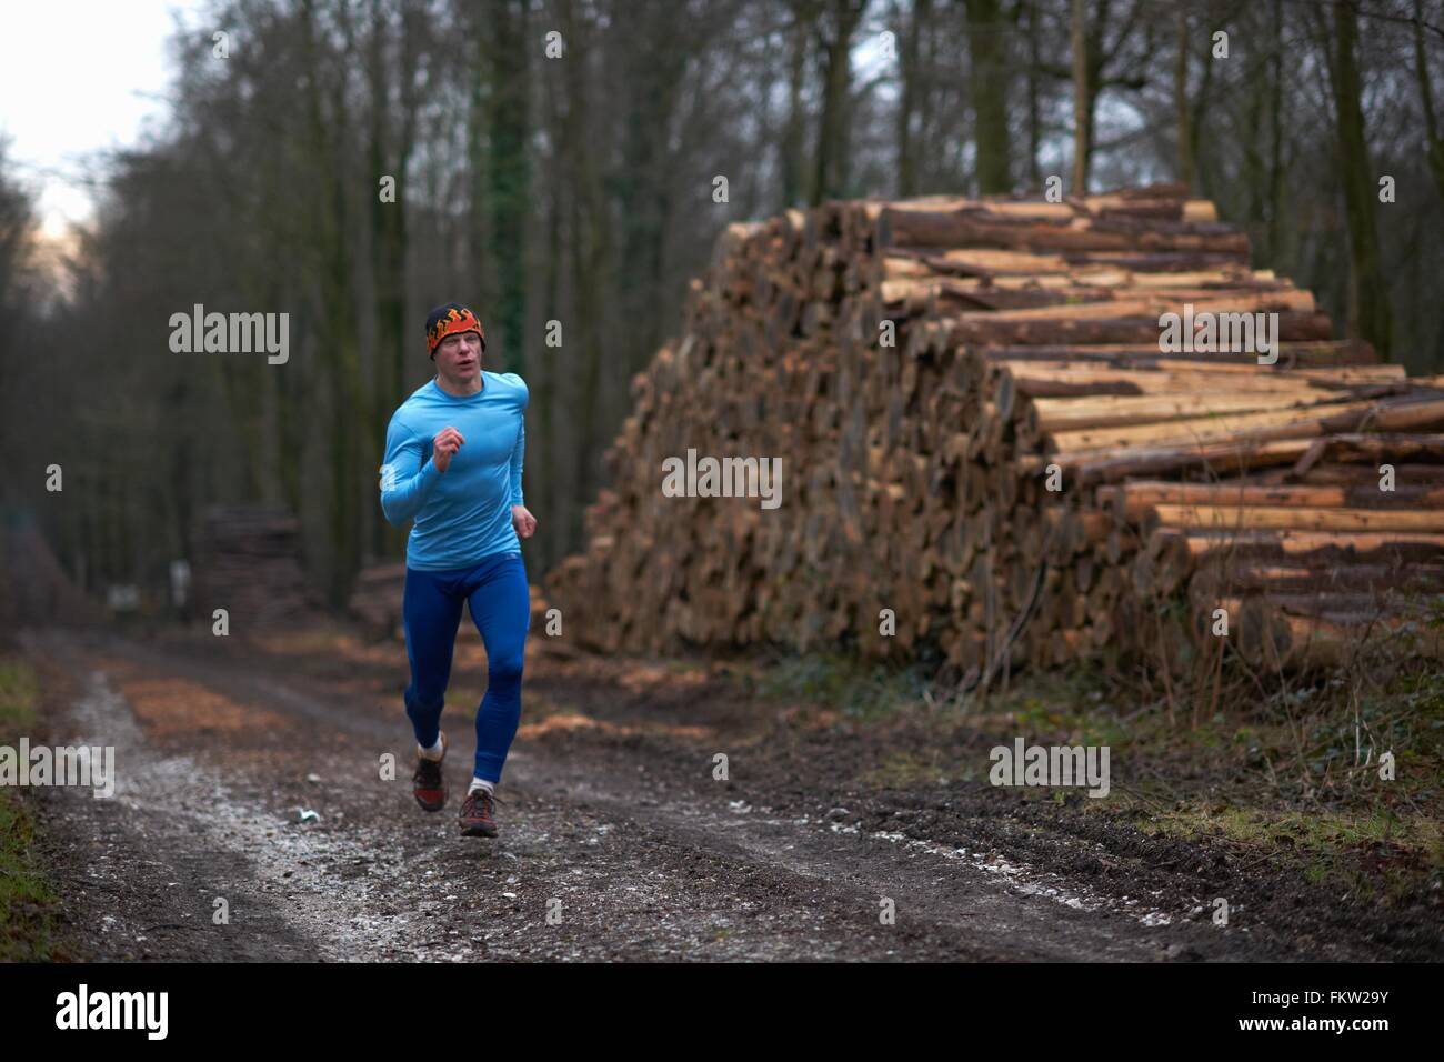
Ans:
[[[1099,665],[1030,672],[969,699],[931,688],[918,668],[836,655],[735,676],[755,695],[871,728],[875,754],[855,780],[872,789],[983,782],[988,747],[1015,737],[1108,746],[1110,799],[1069,800],[1080,813],[1222,844],[1248,864],[1382,903],[1444,889],[1444,673],[1422,663],[1167,694]]]

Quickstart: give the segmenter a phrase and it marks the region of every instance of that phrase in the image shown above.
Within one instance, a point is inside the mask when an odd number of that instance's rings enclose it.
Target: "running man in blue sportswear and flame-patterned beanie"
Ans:
[[[412,793],[426,811],[446,803],[440,733],[461,604],[487,646],[487,695],[477,709],[477,760],[461,832],[495,837],[494,798],[521,720],[521,657],[531,626],[521,542],[537,522],[521,503],[526,383],[481,367],[487,337],[477,315],[448,302],[426,318],[436,376],[401,403],[386,431],[381,511],[416,523],[406,539],[403,621],[416,731]]]

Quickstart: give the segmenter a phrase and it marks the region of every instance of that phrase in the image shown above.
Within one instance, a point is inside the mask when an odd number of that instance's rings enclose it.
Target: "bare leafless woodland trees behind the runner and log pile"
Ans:
[[[59,263],[0,144],[0,501],[92,590],[163,587],[211,503],[297,513],[332,603],[399,559],[384,431],[453,299],[531,389],[539,578],[718,231],[830,198],[1186,182],[1444,373],[1438,0],[241,0],[169,53]],[[287,314],[289,360],[173,353],[196,303]]]

